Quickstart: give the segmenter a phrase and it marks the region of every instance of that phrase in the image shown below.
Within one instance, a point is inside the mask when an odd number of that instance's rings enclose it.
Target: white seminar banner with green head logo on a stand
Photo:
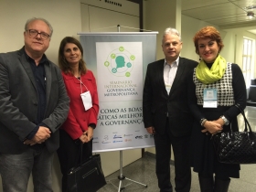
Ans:
[[[155,146],[144,128],[142,103],[146,67],[156,59],[156,34],[78,33],[100,101],[94,153]]]

